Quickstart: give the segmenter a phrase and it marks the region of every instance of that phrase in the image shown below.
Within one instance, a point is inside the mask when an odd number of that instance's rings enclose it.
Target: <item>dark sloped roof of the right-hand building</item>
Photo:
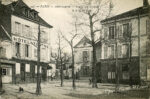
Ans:
[[[150,10],[150,6],[147,6],[147,7],[142,6],[142,7],[127,11],[125,13],[121,13],[119,15],[104,19],[101,21],[101,23],[111,21],[111,20],[118,20],[118,19],[126,18],[126,17],[137,16],[138,14],[140,14],[140,15],[148,14],[149,10]]]

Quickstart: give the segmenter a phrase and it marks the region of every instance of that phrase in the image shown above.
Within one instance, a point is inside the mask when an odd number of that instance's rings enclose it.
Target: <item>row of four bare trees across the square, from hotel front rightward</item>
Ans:
[[[71,49],[71,57],[72,57],[72,87],[73,89],[76,88],[75,85],[75,73],[74,73],[74,51],[73,51],[73,41],[78,36],[81,35],[79,31],[82,31],[86,35],[88,35],[92,42],[93,47],[93,63],[92,63],[92,87],[97,88],[97,79],[96,79],[96,46],[95,46],[95,35],[96,33],[100,33],[102,31],[102,27],[100,26],[99,22],[110,16],[110,12],[112,10],[112,2],[106,1],[106,0],[74,0],[74,3],[76,5],[80,5],[80,7],[77,9],[79,12],[74,13],[72,15],[73,20],[75,20],[72,25],[74,27],[74,30],[71,31],[70,39],[68,39],[61,30],[58,31],[58,59],[60,61],[61,66],[61,86],[63,86],[63,46],[61,44],[61,39],[63,38]],[[40,23],[40,20],[39,20]],[[40,95],[42,94],[41,90],[41,76],[39,74],[40,69],[40,46],[41,46],[41,30],[40,30],[40,24],[38,28],[38,46],[37,46],[37,88],[36,88],[36,94]]]

